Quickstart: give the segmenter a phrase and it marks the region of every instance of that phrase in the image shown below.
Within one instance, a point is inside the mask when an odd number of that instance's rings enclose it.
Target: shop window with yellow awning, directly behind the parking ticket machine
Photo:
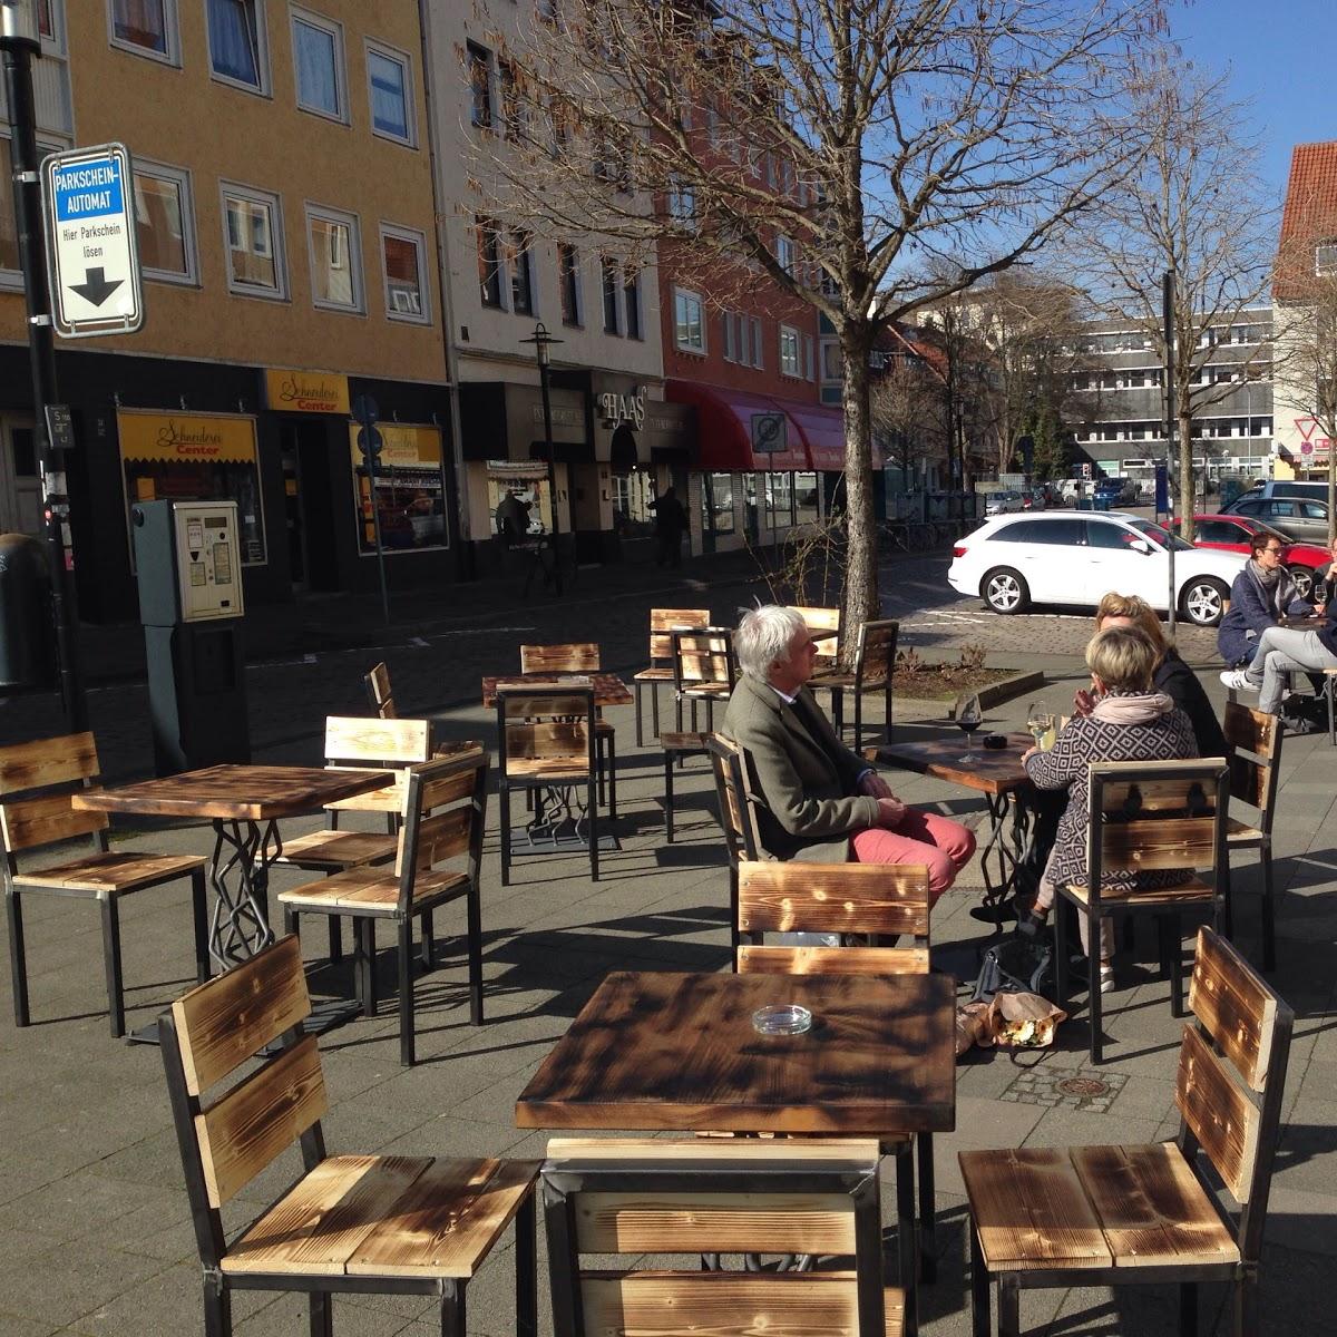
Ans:
[[[126,512],[136,501],[235,501],[242,566],[263,566],[255,420],[241,414],[116,412]]]

